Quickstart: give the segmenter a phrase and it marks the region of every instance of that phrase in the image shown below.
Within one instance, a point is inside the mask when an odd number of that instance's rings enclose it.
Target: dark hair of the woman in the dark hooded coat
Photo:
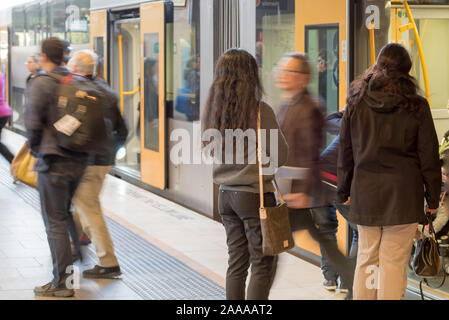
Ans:
[[[351,83],[347,104],[358,104],[370,85],[372,91],[402,97],[399,107],[418,112],[422,98],[418,95],[415,78],[410,75],[411,69],[412,60],[407,49],[400,44],[387,44],[380,50],[376,64]]]

